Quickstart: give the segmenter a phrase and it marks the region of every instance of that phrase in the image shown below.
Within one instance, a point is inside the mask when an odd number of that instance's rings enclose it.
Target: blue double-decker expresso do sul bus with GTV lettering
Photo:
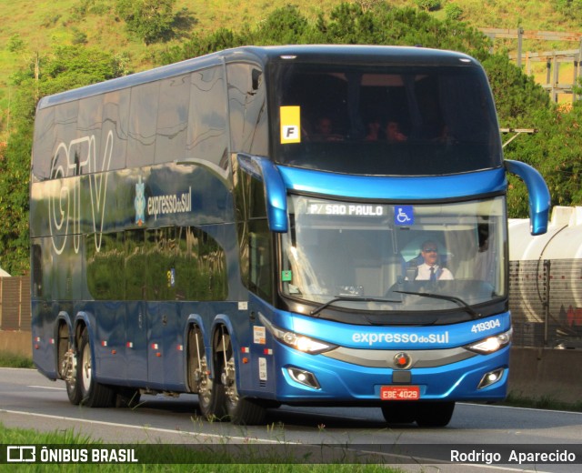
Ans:
[[[507,172],[470,56],[240,47],[47,96],[30,201],[35,366],[87,407],[369,406],[446,426],[507,393]]]

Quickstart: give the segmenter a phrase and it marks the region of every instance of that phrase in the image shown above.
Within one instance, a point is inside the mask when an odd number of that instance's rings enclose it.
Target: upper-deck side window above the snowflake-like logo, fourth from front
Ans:
[[[159,88],[154,82],[131,90],[127,167],[154,164]]]

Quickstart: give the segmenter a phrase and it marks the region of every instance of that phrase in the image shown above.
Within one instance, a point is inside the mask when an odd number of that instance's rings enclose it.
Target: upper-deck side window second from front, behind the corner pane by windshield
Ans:
[[[186,157],[205,159],[226,169],[228,135],[224,69],[217,66],[192,73],[190,87]]]

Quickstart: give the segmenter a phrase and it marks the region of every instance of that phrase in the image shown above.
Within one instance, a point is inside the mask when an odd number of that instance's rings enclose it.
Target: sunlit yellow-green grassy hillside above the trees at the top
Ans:
[[[357,0],[362,5],[371,5],[381,0]],[[300,12],[310,19],[319,13],[328,13],[341,0],[176,0],[174,11],[187,9],[191,20],[189,31],[206,34],[219,27],[237,30],[242,25],[253,27],[277,7],[297,5]],[[389,0],[395,6],[415,6],[416,0]],[[445,6],[449,0],[441,1],[441,8],[432,15],[445,18]],[[556,1],[542,0],[455,0],[461,8],[461,19],[476,27],[522,26],[527,30],[577,31],[582,29],[572,15],[562,15],[554,8]],[[564,3],[564,2],[562,2]],[[154,56],[168,45],[146,46],[125,31],[125,22],[115,14],[117,0],[0,0],[0,129],[6,126],[7,109],[11,97],[10,76],[26,64],[33,64],[36,55],[43,55],[55,45],[75,43],[94,46],[113,52],[123,58],[127,72],[135,72],[154,65]],[[515,48],[515,41],[496,42],[496,47]],[[574,48],[577,45],[525,45],[531,50]]]

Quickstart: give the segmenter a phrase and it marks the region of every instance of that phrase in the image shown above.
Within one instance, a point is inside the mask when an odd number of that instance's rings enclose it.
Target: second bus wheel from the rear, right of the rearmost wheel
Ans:
[[[77,362],[77,382],[81,391],[81,404],[87,408],[110,408],[114,405],[114,391],[99,384],[93,377],[91,343],[87,331],[81,337],[80,362]]]

